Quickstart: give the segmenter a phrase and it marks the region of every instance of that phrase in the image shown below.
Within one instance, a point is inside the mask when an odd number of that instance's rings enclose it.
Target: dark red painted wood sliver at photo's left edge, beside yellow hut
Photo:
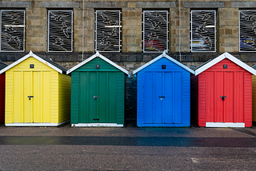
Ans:
[[[6,74],[0,74],[0,122],[5,121]]]

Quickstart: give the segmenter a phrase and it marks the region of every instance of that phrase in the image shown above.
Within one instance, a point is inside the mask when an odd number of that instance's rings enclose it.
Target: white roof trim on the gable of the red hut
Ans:
[[[247,66],[246,63],[240,61],[238,58],[235,58],[234,56],[232,56],[231,54],[225,52],[224,54],[221,54],[220,56],[218,56],[217,58],[214,58],[213,60],[211,60],[210,62],[206,63],[206,65],[198,68],[198,70],[195,70],[195,75],[198,75],[200,73],[202,73],[203,71],[209,69],[211,66],[214,66],[215,64],[217,64],[218,62],[221,62],[223,59],[228,58],[230,59],[231,62],[234,62],[235,64],[237,64],[238,66],[241,66],[244,70],[247,70],[248,72],[250,72],[251,74],[256,75],[256,70],[254,70],[252,67]]]

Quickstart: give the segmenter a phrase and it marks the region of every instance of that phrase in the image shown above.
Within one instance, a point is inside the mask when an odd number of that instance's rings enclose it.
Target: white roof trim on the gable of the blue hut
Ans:
[[[151,60],[150,62],[147,62],[145,65],[139,67],[137,70],[134,70],[133,75],[138,73],[140,70],[143,70],[144,68],[146,68],[147,66],[150,66],[151,64],[153,64],[154,62],[157,62],[159,59],[161,58],[167,58],[169,59],[171,62],[174,62],[175,64],[177,64],[178,66],[181,66],[183,69],[189,71],[191,74],[194,74],[194,70],[191,70],[189,67],[184,66],[181,62],[176,61],[174,58],[171,58],[170,56],[168,56],[166,54],[166,52],[164,51],[162,54],[160,54],[157,58],[154,58],[153,60]]]

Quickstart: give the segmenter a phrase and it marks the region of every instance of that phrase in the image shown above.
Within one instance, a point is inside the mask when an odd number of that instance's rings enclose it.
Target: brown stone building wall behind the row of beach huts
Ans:
[[[84,3],[83,3],[84,2]],[[0,10],[26,10],[26,52],[0,52],[0,60],[10,64],[29,53],[50,58],[70,69],[94,54],[95,10],[122,10],[122,53],[101,53],[126,70],[138,67],[159,54],[142,53],[142,11],[169,11],[169,56],[188,67],[200,66],[228,52],[249,66],[256,64],[255,53],[239,52],[239,10],[255,9],[253,0],[0,0]],[[72,53],[47,52],[47,11],[73,10]],[[190,52],[190,10],[217,11],[216,53]],[[136,117],[136,80],[126,78],[126,118]]]

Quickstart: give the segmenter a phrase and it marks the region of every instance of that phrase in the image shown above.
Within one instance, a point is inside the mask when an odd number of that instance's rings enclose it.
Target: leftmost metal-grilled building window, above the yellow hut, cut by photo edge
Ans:
[[[1,10],[1,52],[25,51],[25,10]]]

